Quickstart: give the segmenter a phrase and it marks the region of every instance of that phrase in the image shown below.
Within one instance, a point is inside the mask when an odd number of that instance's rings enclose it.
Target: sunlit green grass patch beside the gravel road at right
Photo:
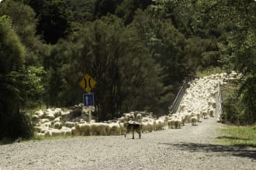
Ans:
[[[222,145],[256,148],[256,125],[223,128],[220,130],[217,142]]]

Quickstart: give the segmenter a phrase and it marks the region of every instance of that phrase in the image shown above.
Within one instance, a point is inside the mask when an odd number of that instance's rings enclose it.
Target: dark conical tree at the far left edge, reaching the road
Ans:
[[[0,17],[0,139],[29,138],[32,124],[19,108],[22,105],[23,84],[20,78],[25,48],[11,26],[11,20]]]

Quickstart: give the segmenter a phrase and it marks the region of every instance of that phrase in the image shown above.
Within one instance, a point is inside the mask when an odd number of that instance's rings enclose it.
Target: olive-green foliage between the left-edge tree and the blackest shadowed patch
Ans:
[[[36,14],[29,5],[22,2],[7,0],[0,6],[0,15],[8,15],[12,20],[12,28],[16,31],[23,46],[26,48],[26,65],[39,66],[40,56],[43,55],[45,47],[36,36]]]

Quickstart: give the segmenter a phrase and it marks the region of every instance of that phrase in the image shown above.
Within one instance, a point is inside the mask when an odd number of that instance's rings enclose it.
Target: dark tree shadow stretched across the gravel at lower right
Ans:
[[[159,145],[168,145],[170,148],[179,148],[182,151],[191,152],[216,152],[222,155],[233,155],[237,157],[246,157],[256,160],[256,149],[240,148],[235,146],[213,145],[213,144],[198,144],[198,143],[159,143]]]

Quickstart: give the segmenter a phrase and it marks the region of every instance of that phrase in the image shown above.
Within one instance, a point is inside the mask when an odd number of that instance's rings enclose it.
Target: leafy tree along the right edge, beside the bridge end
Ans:
[[[227,71],[236,70],[243,73],[244,81],[236,100],[244,105],[246,123],[253,124],[256,121],[256,3],[252,0],[222,1],[218,13],[216,22],[223,23],[227,34],[226,41],[219,44],[221,62]]]

